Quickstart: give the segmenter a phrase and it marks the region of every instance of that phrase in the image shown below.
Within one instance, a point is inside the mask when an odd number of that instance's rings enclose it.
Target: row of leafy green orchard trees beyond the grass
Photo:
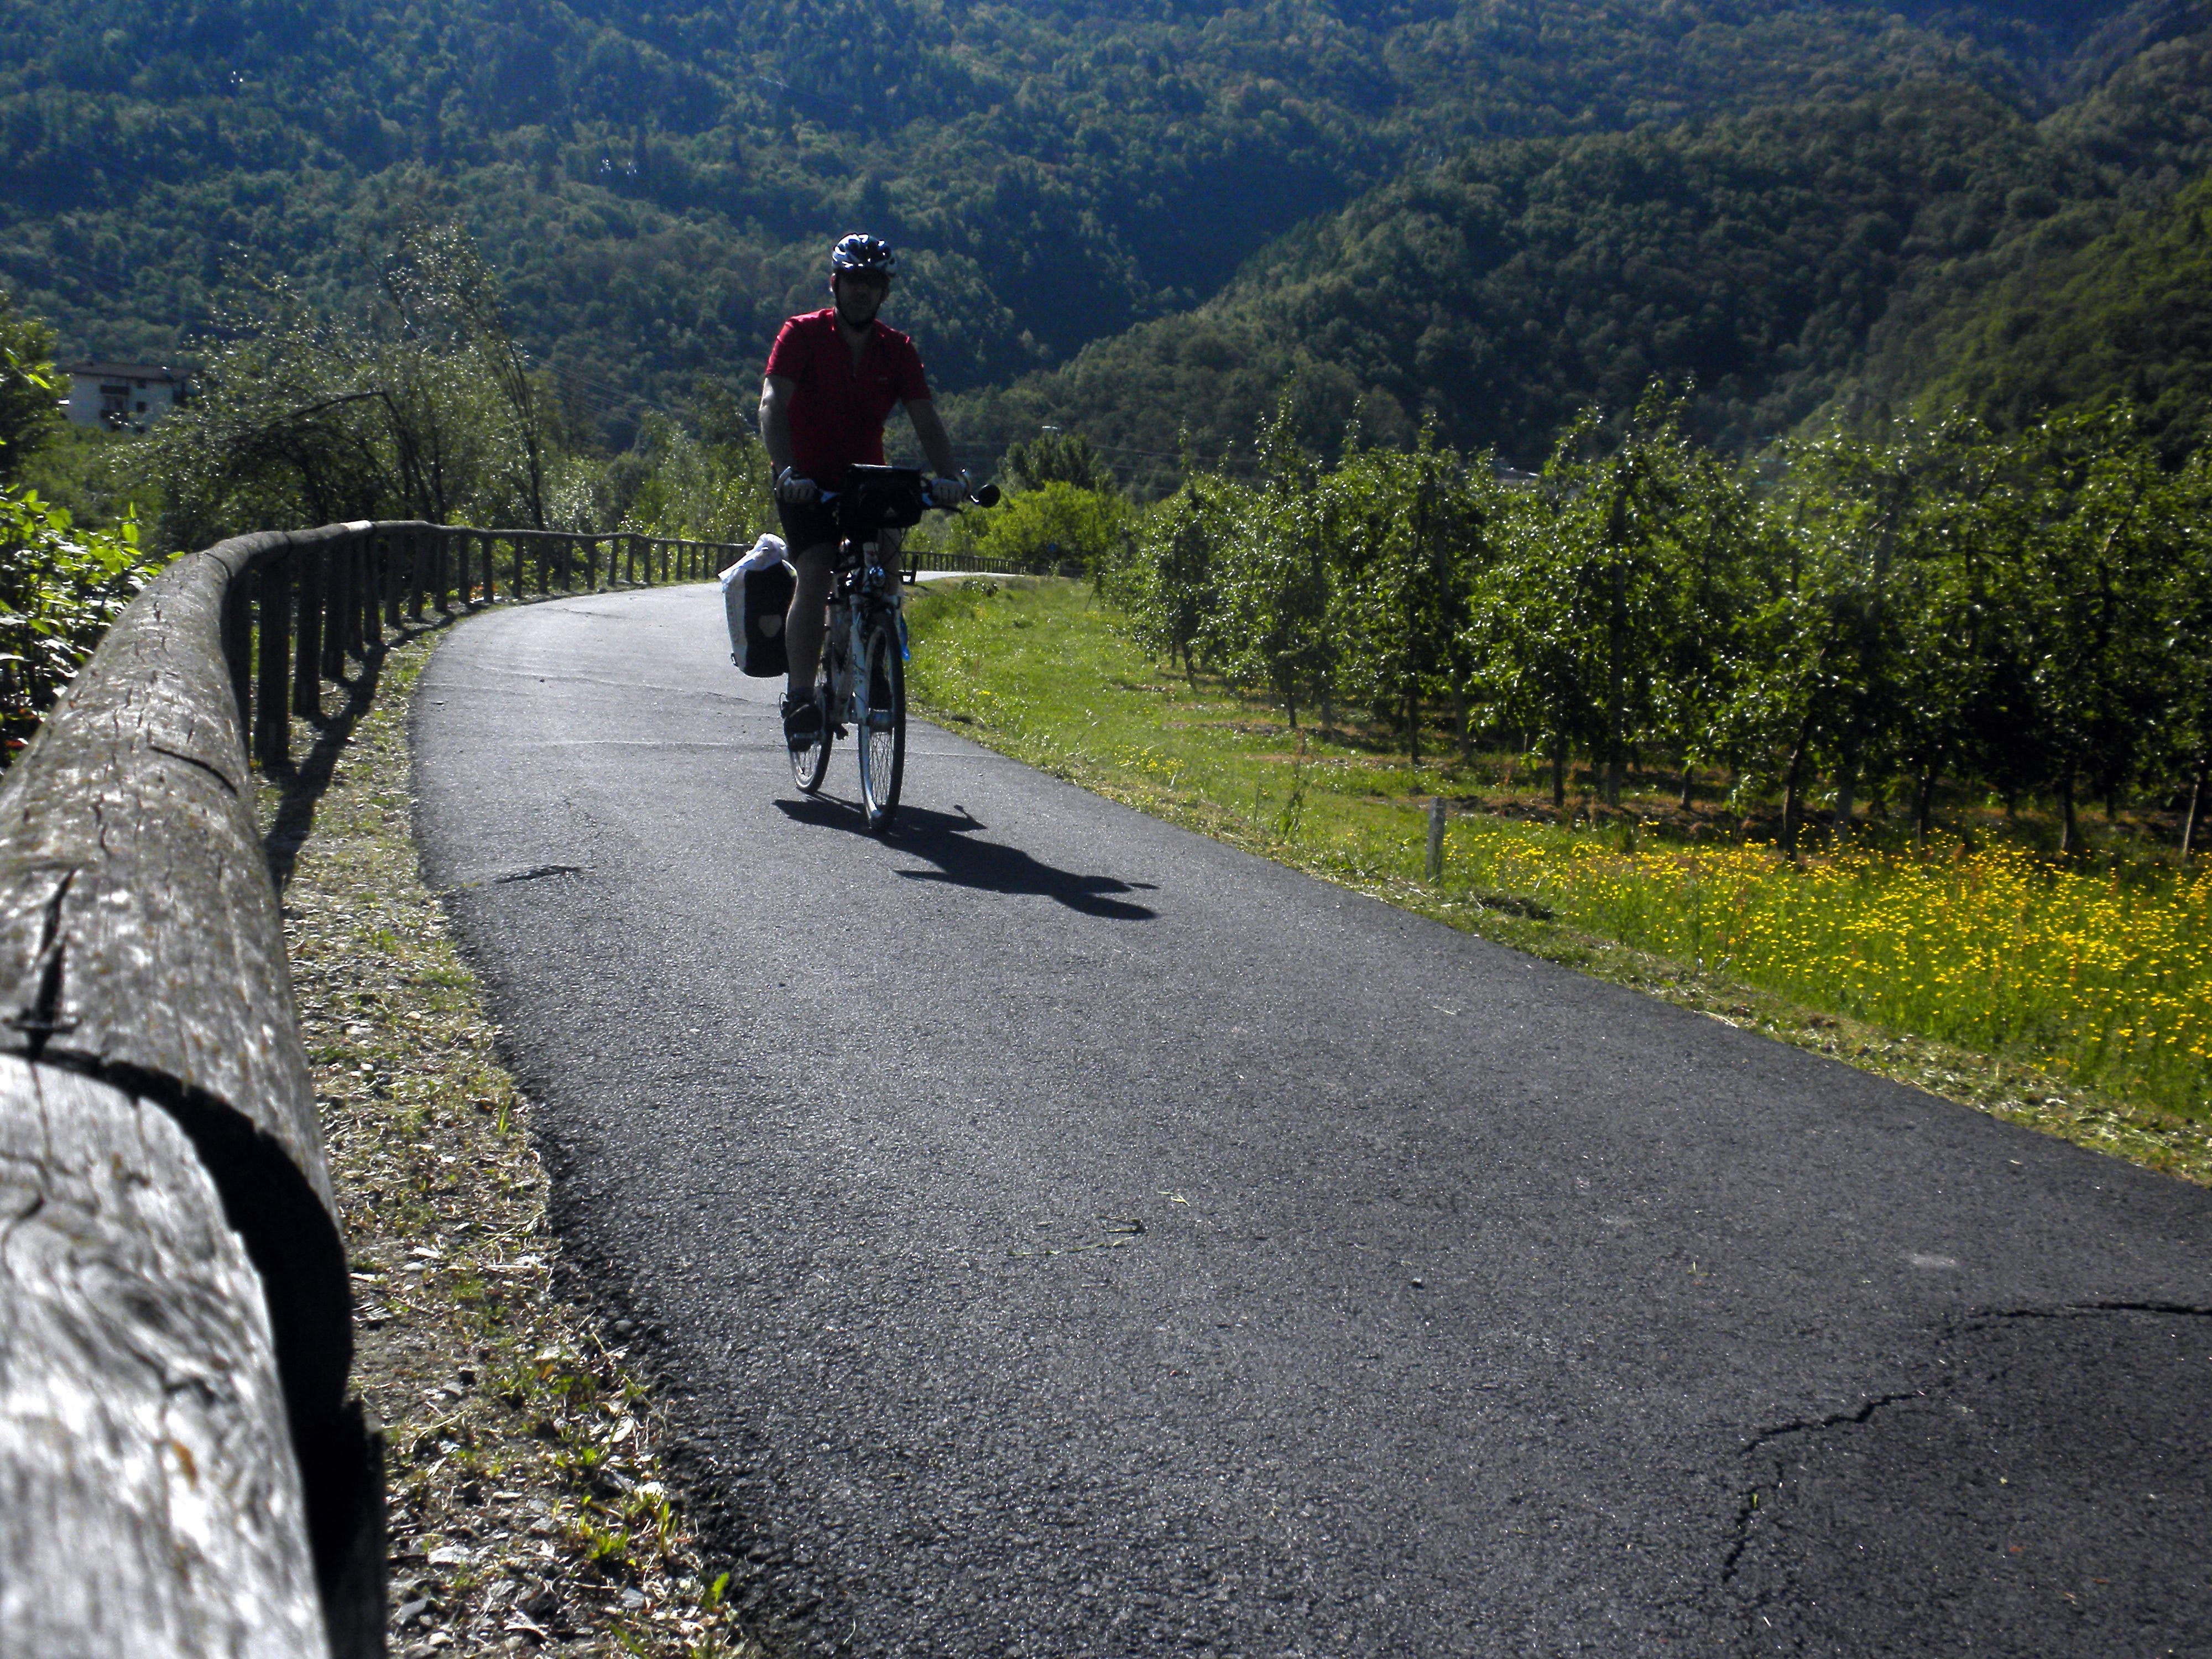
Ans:
[[[2117,407],[1995,436],[1969,420],[1792,445],[1739,469],[1657,387],[1615,438],[1575,420],[1540,478],[1436,442],[1192,478],[1102,573],[1141,639],[1285,703],[1349,699],[1548,761],[1721,768],[1924,838],[1940,781],[2057,805],[2203,812],[2212,458],[2161,465]],[[2194,832],[2190,832],[2194,834]]]

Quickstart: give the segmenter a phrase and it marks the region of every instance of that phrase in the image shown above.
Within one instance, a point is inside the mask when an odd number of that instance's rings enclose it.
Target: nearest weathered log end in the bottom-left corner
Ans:
[[[325,1652],[261,1283],[157,1104],[0,1057],[0,1652]]]

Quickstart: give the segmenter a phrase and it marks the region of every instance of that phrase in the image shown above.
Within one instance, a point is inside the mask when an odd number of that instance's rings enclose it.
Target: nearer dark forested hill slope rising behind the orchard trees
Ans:
[[[2179,13],[2177,13],[2179,18]],[[2130,44],[2141,44],[2135,40]],[[2000,420],[2132,394],[2208,405],[2212,33],[2099,64],[2037,119],[1929,77],[1630,133],[1480,142],[1303,226],[1208,305],[971,400],[1082,429],[1124,473],[1212,458],[1296,387],[1303,436],[1542,460],[1584,405],[1694,385],[1708,440],[1823,407],[1966,398]]]

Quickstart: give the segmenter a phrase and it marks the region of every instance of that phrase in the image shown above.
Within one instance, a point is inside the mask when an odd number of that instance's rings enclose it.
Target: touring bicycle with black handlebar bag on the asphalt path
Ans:
[[[900,571],[883,568],[883,531],[922,522],[936,507],[929,473],[914,467],[854,467],[852,482],[825,491],[823,504],[836,513],[838,555],[830,582],[830,628],[823,635],[821,679],[814,688],[823,710],[812,743],[792,748],[792,781],[805,794],[830,774],[830,745],[860,734],[860,807],[867,827],[883,834],[898,814],[898,790],[907,774],[907,617],[900,608]],[[969,491],[967,504],[995,507],[998,484]],[[956,513],[960,504],[938,511]]]

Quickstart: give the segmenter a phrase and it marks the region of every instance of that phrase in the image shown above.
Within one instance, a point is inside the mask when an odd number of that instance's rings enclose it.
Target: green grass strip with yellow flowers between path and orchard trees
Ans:
[[[1982,1110],[2212,1181],[2212,878],[2064,867],[1969,825],[1944,856],[1785,860],[1646,792],[1551,823],[1511,757],[1422,768],[1378,734],[1146,659],[1073,582],[931,586],[918,706],[1106,796],[1504,945]],[[1427,801],[1453,801],[1425,878]],[[1756,834],[1756,827],[1754,827]]]

